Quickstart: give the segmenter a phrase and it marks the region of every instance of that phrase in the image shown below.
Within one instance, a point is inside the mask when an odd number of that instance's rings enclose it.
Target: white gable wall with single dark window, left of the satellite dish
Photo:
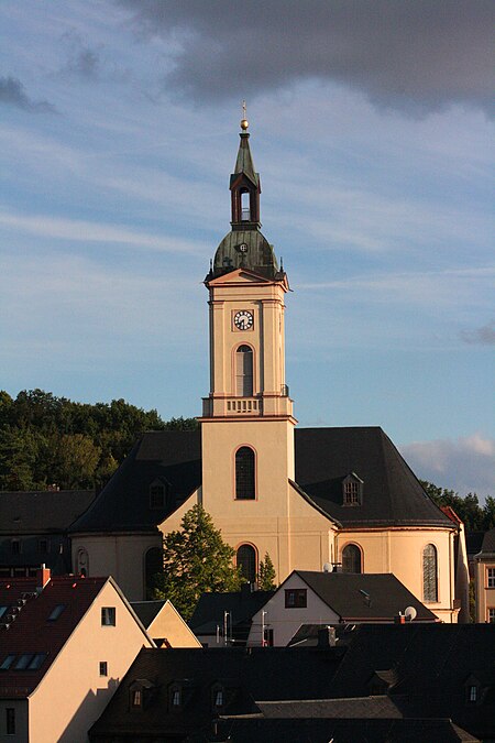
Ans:
[[[307,589],[307,607],[285,607],[285,591],[292,588]],[[265,626],[273,630],[274,645],[282,647],[294,637],[301,624],[336,624],[339,616],[305,583],[299,576],[292,576],[283,587],[253,616],[248,646],[262,644],[262,611],[265,611]]]

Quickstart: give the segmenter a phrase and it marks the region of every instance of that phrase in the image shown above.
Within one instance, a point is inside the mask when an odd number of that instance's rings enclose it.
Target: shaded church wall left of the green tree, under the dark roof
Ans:
[[[75,534],[73,536],[73,566],[78,572],[79,549],[89,556],[88,576],[112,576],[128,601],[144,601],[145,557],[152,547],[162,547],[162,535],[156,534]]]

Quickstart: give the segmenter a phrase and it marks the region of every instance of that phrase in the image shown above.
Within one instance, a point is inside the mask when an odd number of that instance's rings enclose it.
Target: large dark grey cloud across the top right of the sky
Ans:
[[[197,100],[333,80],[381,106],[488,109],[491,0],[116,0],[140,33],[179,42],[167,83]]]

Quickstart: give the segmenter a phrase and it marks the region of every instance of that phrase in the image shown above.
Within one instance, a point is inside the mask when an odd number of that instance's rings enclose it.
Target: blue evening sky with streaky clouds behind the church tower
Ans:
[[[299,425],[495,495],[494,8],[2,0],[0,389],[200,414],[245,99]]]

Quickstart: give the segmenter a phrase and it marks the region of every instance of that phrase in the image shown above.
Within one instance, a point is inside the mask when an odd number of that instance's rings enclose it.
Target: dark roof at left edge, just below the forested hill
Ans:
[[[94,500],[92,490],[0,491],[0,534],[64,532]]]

